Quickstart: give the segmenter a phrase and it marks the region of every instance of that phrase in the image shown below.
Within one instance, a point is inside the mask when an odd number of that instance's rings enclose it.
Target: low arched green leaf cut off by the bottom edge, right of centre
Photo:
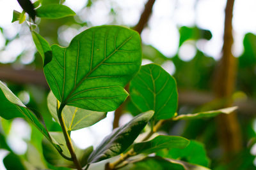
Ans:
[[[168,160],[165,160],[161,157],[146,157],[143,160],[136,161],[132,164],[129,164],[128,166],[120,168],[120,170],[137,170],[137,169],[143,169],[143,170],[166,170],[166,169],[172,169],[172,170],[185,170],[184,166],[176,163],[176,162],[170,162]]]

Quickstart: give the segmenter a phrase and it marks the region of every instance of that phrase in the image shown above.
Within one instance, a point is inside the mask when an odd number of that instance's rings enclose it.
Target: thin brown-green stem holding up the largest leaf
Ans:
[[[62,116],[62,110],[63,110],[64,107],[65,107],[65,104],[61,103],[60,108],[58,109],[58,119],[60,121],[61,129],[62,129],[63,135],[65,137],[65,141],[66,141],[68,150],[70,152],[70,155],[72,157],[72,160],[73,160],[74,164],[76,165],[78,170],[83,170],[81,165],[79,164],[79,162],[77,160],[76,153],[74,152],[74,147],[72,145],[70,136],[68,135],[67,127],[65,125],[65,122],[64,122],[64,119],[63,119],[63,116]]]

